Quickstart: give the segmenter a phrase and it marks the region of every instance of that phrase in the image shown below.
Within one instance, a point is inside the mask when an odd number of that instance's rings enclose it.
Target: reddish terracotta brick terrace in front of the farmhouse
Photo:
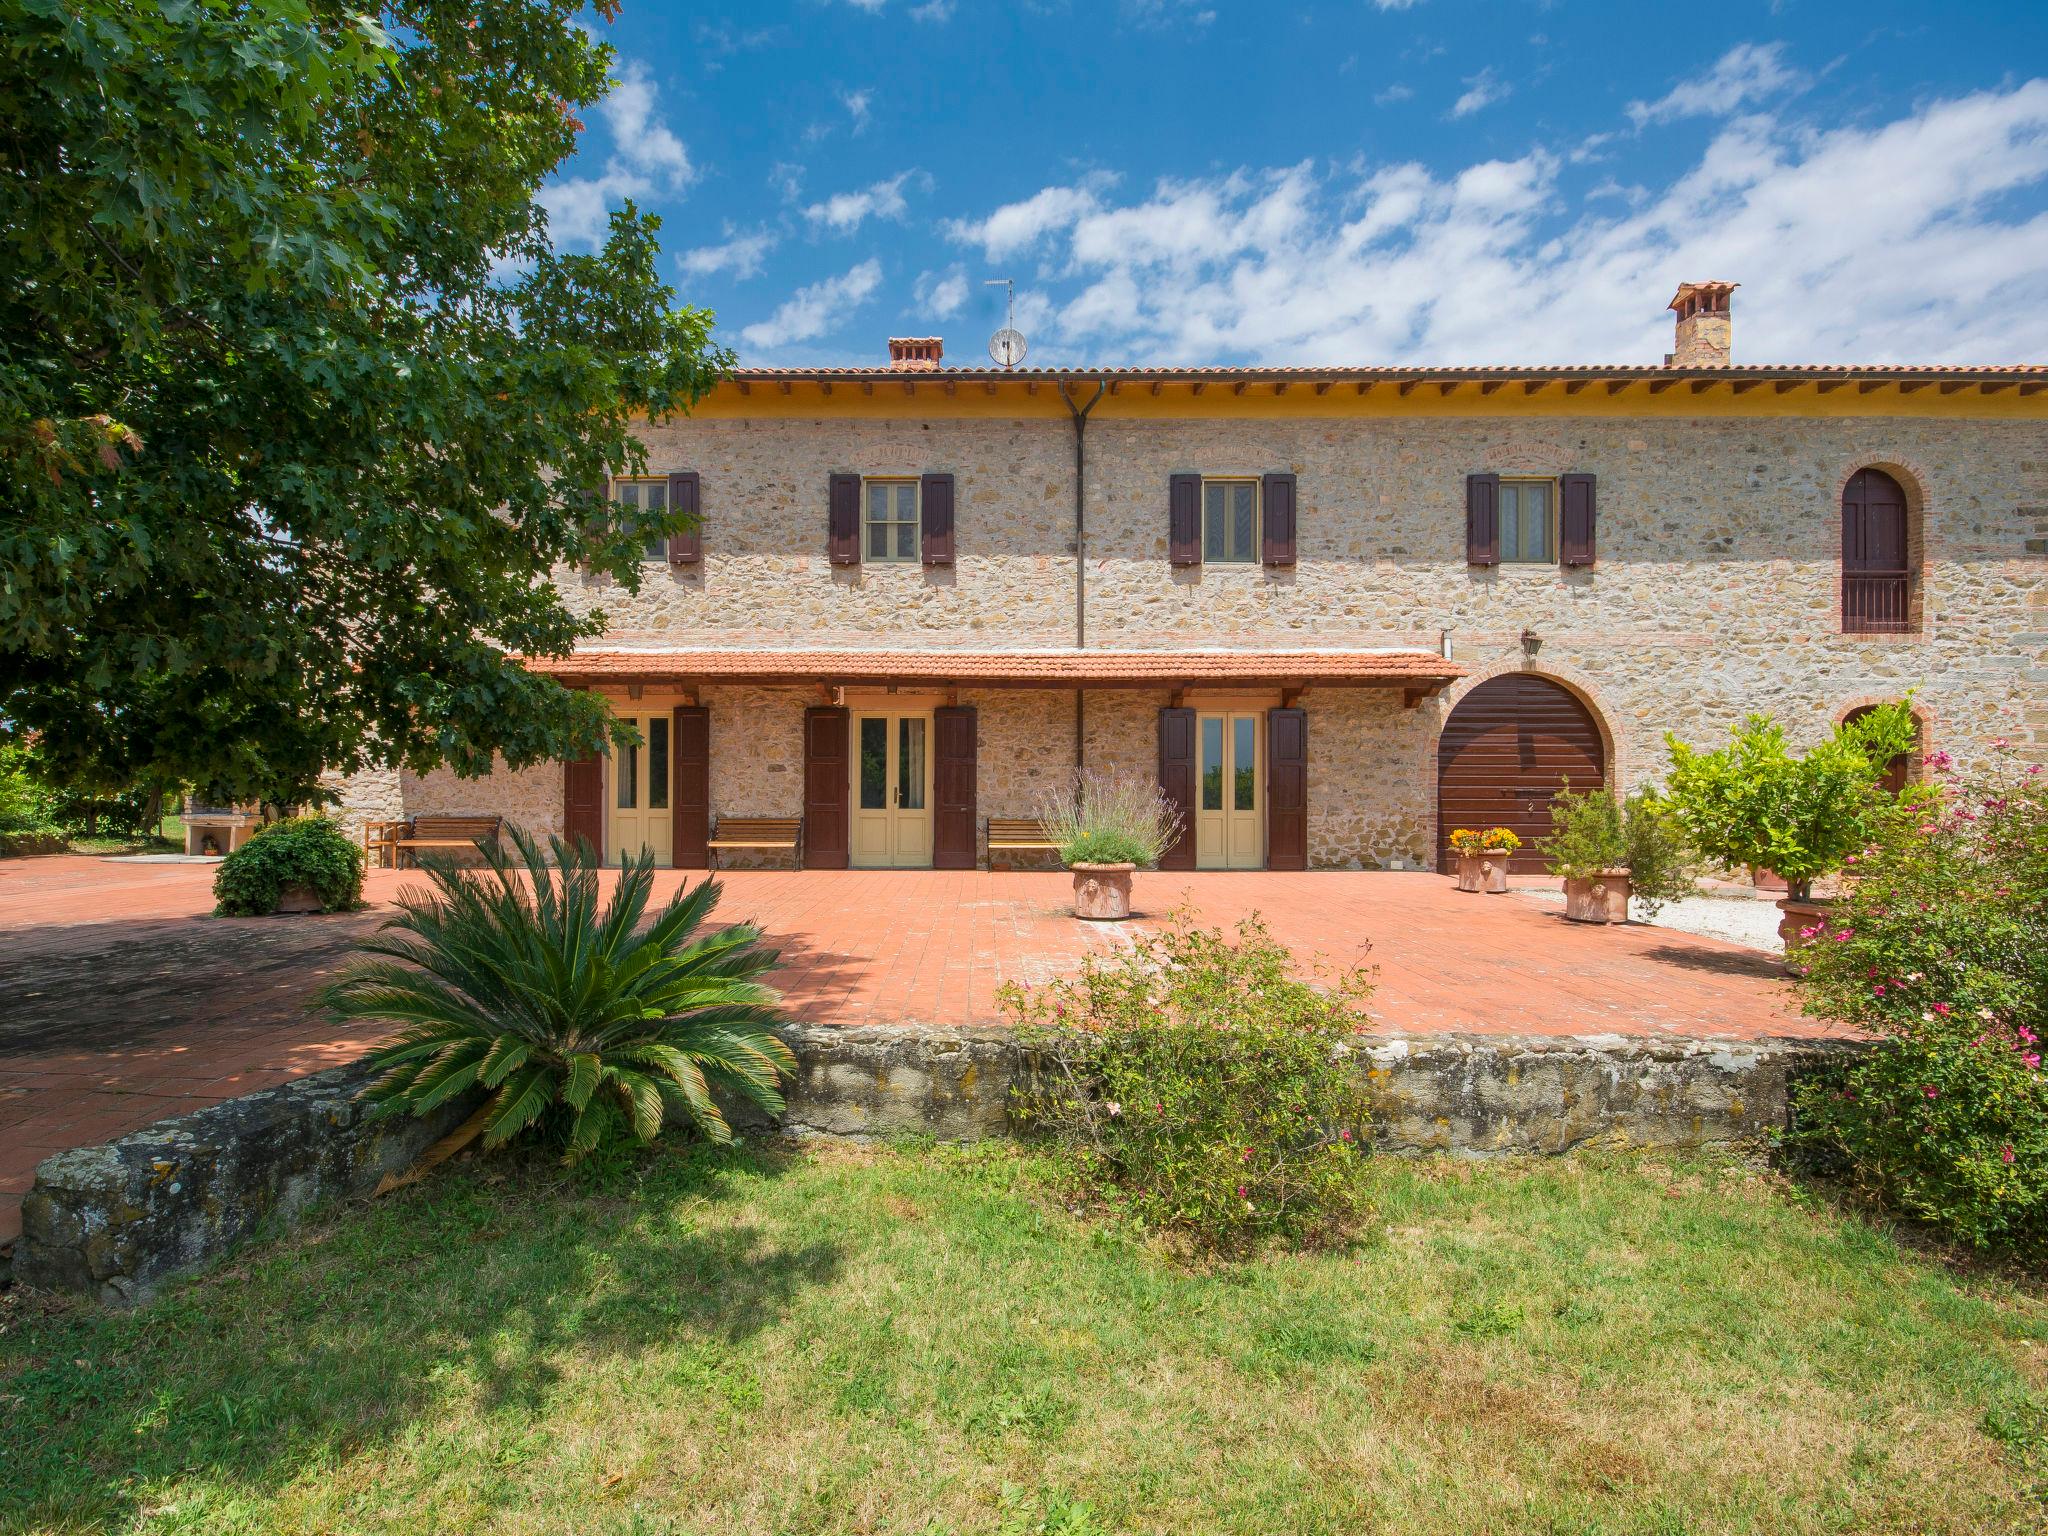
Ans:
[[[309,991],[418,874],[373,870],[371,911],[211,918],[213,868],[98,858],[0,862],[0,1243],[35,1163],[168,1114],[360,1055],[375,1040],[307,1010]],[[662,874],[657,897],[682,874]],[[694,877],[692,877],[694,879]],[[1141,874],[1139,918],[1065,915],[1034,872],[739,870],[721,918],[782,950],[791,1010],[819,1024],[999,1022],[1004,981],[1069,973],[1182,901],[1260,911],[1298,954],[1378,967],[1386,1030],[1815,1036],[1776,961],[1661,928],[1567,924],[1522,895],[1458,895],[1434,874]]]

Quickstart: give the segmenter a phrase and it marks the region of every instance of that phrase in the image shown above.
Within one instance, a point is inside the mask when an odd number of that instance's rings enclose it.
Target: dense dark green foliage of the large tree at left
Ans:
[[[600,6],[602,8],[602,6]],[[727,365],[653,217],[535,199],[608,88],[571,0],[0,0],[0,719],[84,784],[297,799],[582,754],[508,655],[668,524],[594,508]]]

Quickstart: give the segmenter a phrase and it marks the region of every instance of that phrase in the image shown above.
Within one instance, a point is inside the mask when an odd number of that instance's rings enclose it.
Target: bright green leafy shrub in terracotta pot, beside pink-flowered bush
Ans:
[[[1767,715],[1751,715],[1729,745],[1696,752],[1667,735],[1671,813],[1692,846],[1729,870],[1767,868],[1804,901],[1812,883],[1878,836],[1901,801],[1878,782],[1901,752],[1913,750],[1909,705],[1880,705],[1794,758]]]

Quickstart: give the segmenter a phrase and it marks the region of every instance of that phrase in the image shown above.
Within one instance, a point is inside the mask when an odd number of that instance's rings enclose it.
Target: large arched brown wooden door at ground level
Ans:
[[[1569,688],[1528,672],[1489,678],[1458,700],[1436,745],[1436,866],[1450,868],[1452,827],[1509,827],[1516,872],[1542,872],[1550,797],[1608,782],[1593,713]]]

